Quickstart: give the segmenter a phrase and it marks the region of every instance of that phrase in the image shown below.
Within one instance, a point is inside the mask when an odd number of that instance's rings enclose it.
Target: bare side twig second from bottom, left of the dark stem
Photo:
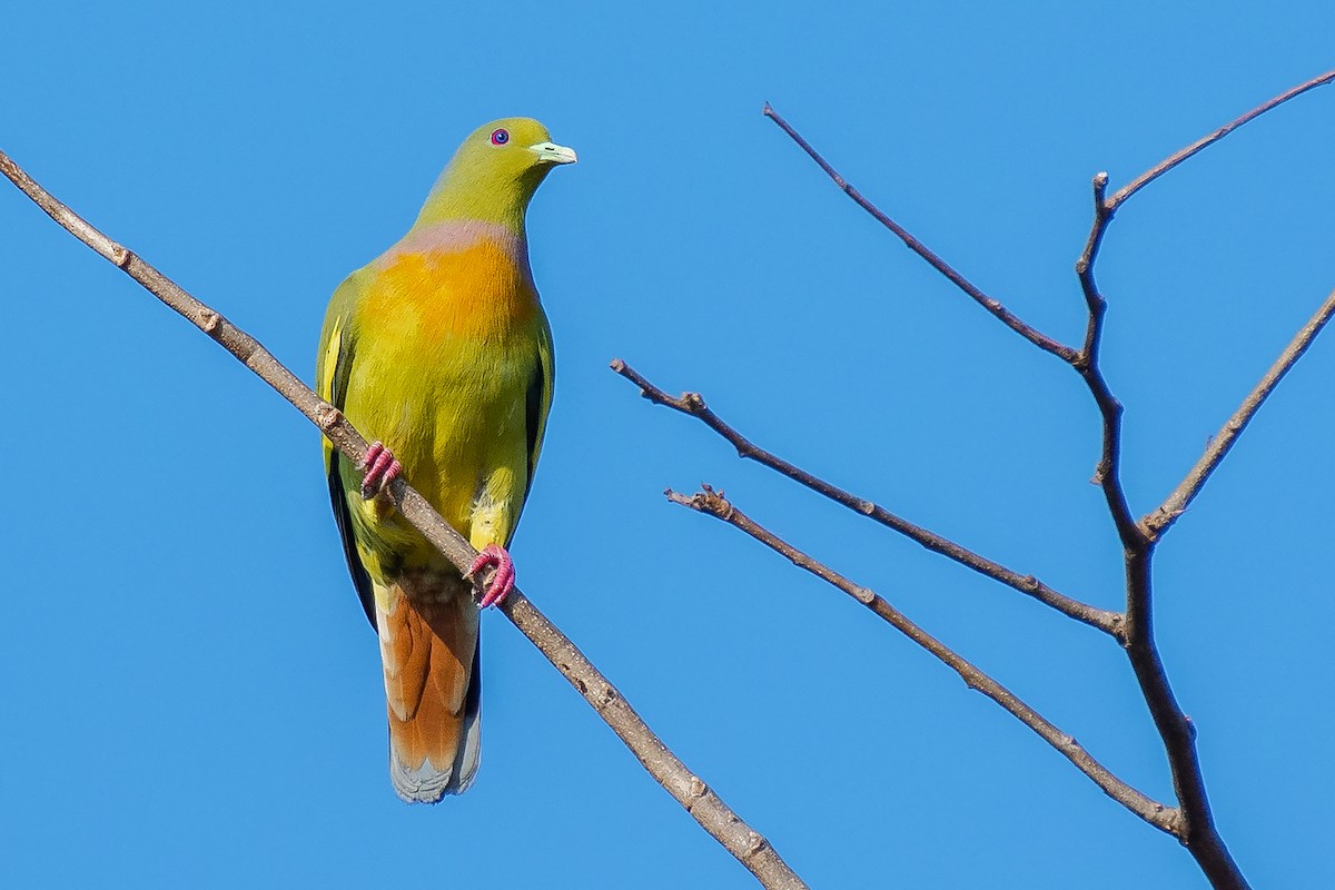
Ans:
[[[987,575],[988,578],[999,580],[1008,587],[1013,587],[1023,594],[1033,596],[1040,603],[1056,608],[1068,618],[1073,618],[1077,622],[1096,627],[1105,634],[1111,634],[1119,640],[1123,639],[1120,612],[1097,608],[1077,599],[1072,599],[1065,594],[1052,590],[1033,575],[1021,575],[1012,571],[1000,563],[992,562],[991,559],[973,552],[972,550],[961,547],[948,538],[943,538],[933,531],[916,526],[865,498],[858,498],[857,495],[833,486],[824,479],[813,476],[805,470],[796,467],[788,460],[784,460],[782,458],[752,443],[741,432],[730,427],[717,414],[714,414],[705,404],[705,400],[698,392],[684,392],[681,396],[670,396],[646,380],[638,371],[621,359],[613,359],[611,370],[639,387],[639,394],[654,404],[661,404],[680,411],[681,414],[697,418],[710,430],[732,443],[732,446],[737,448],[738,456],[756,460],[757,463],[788,476],[793,482],[806,486],[812,491],[829,498],[834,503],[848,507],[853,512],[874,519],[888,528],[893,528],[901,535],[926,547],[932,552],[941,554],[961,566],[967,566],[979,574]]]

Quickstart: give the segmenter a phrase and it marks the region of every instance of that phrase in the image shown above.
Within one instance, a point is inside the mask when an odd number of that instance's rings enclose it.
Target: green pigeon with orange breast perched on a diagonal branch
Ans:
[[[454,152],[407,234],[330,299],[319,395],[375,442],[359,463],[323,442],[334,519],[380,643],[390,779],[410,803],[473,785],[481,755],[481,608],[514,590],[510,538],[551,407],[551,328],[526,213],[575,163],[531,117]],[[461,574],[395,510],[402,475],[479,551]],[[474,578],[491,570],[479,584]]]

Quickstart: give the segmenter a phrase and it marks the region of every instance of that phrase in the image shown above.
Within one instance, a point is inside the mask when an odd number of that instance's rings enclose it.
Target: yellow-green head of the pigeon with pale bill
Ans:
[[[518,231],[529,200],[553,167],[575,152],[551,141],[531,117],[502,117],[473,131],[427,197],[418,224],[449,219],[502,223]]]

